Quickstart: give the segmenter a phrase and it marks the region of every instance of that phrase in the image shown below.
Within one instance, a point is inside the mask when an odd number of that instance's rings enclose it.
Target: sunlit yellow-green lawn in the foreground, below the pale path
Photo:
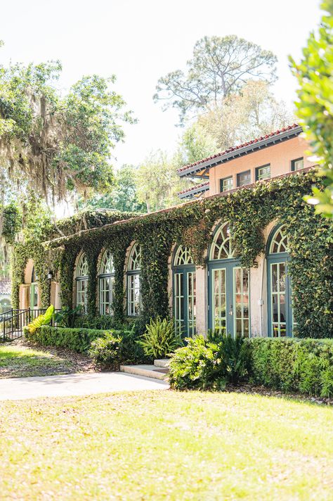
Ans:
[[[2,402],[0,498],[332,500],[332,417],[242,393]]]

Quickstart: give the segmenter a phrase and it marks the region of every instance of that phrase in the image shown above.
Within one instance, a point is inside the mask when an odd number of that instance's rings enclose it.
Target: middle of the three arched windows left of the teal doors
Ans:
[[[115,268],[112,254],[109,250],[103,253],[100,260],[99,293],[100,315],[113,315],[113,289],[115,282]]]

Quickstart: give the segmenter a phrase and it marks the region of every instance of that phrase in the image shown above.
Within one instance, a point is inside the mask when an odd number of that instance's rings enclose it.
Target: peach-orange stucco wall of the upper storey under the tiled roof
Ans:
[[[282,143],[263,148],[260,151],[235,158],[229,162],[216,165],[209,170],[209,191],[205,196],[215,195],[220,190],[220,180],[233,177],[233,188],[237,187],[237,174],[251,171],[251,183],[256,181],[256,167],[270,164],[270,177],[287,174],[292,170],[292,160],[303,157],[303,167],[311,167],[313,162],[308,160],[309,146],[302,137],[294,137]]]

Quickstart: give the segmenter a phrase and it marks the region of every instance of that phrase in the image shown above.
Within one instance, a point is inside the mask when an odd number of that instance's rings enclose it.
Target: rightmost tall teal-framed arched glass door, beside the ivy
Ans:
[[[292,336],[292,293],[288,276],[288,237],[285,225],[268,239],[268,336]]]

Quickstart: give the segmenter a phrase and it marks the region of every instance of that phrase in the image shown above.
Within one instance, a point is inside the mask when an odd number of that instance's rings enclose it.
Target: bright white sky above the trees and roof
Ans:
[[[152,148],[172,151],[180,130],[175,110],[152,101],[157,80],[185,69],[204,35],[239,37],[278,56],[275,94],[288,103],[296,81],[287,56],[298,59],[318,26],[319,0],[0,0],[0,63],[60,59],[64,89],[82,75],[115,73],[115,89],[138,118],[126,126],[115,165],[137,164]]]

